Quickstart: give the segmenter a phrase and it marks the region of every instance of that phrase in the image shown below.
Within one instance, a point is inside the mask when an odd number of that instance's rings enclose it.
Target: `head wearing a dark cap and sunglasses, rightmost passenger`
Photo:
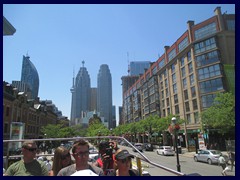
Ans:
[[[118,149],[115,153],[115,168],[119,170],[129,170],[132,168],[132,158],[134,156],[126,149]]]

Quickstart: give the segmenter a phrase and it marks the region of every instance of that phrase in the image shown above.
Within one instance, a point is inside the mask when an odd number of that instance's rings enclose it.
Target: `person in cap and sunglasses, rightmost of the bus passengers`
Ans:
[[[115,153],[115,171],[111,176],[139,176],[137,170],[132,169],[132,159],[134,156],[126,149],[118,149]]]

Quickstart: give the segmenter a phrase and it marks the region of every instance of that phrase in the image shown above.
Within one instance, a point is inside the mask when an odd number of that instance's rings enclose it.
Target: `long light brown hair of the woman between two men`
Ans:
[[[53,157],[53,167],[52,167],[52,170],[53,170],[53,175],[56,176],[58,174],[58,172],[64,168],[62,167],[62,159],[61,159],[61,156],[63,154],[66,154],[66,153],[69,153],[69,150],[63,146],[60,146],[60,147],[57,147],[54,151],[54,157]],[[72,161],[71,163],[72,164]],[[70,165],[69,164],[69,165]]]

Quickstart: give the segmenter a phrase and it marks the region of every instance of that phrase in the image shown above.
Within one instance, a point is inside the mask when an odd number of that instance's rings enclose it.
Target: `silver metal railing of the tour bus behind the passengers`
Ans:
[[[27,141],[27,140],[32,140],[32,141],[75,141],[77,139],[97,139],[97,140],[100,140],[100,139],[121,139],[125,142],[127,142],[127,144],[129,146],[131,146],[132,148],[134,148],[138,153],[139,155],[142,157],[141,160],[143,161],[146,161],[147,163],[155,166],[155,167],[158,167],[160,169],[163,169],[165,171],[168,171],[172,174],[175,174],[175,175],[178,175],[178,176],[184,176],[185,174],[184,173],[181,173],[181,172],[178,172],[176,170],[173,170],[173,169],[170,169],[166,166],[163,166],[163,165],[160,165],[160,164],[157,164],[155,162],[152,162],[150,161],[144,154],[142,154],[134,145],[132,145],[127,139],[125,139],[124,137],[120,137],[120,136],[91,136],[91,137],[72,137],[72,138],[47,138],[47,139],[13,139],[13,140],[3,140],[3,143],[7,143],[7,146],[9,143],[11,142],[24,142],[24,141]],[[39,155],[40,156],[40,155]],[[41,154],[41,156],[52,156],[52,154]],[[7,156],[3,156],[3,158],[6,159],[6,164],[8,164],[8,159],[10,157],[22,157],[22,155],[9,155],[9,151],[7,152]]]

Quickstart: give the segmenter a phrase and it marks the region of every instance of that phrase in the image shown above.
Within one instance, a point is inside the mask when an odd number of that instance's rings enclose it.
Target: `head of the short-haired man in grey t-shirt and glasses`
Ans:
[[[84,139],[79,139],[74,142],[72,147],[72,155],[76,160],[76,164],[85,166],[89,159],[89,144]]]

